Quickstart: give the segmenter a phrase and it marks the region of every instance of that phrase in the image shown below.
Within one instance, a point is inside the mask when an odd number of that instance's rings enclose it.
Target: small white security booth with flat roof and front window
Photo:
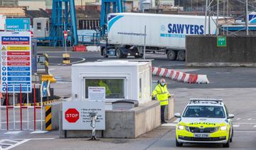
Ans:
[[[89,86],[105,86],[106,102],[151,101],[151,62],[109,60],[72,66],[72,100],[87,100]]]

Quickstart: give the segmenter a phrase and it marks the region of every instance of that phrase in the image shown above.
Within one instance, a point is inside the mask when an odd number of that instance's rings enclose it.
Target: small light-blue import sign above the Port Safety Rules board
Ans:
[[[30,18],[6,18],[6,30],[29,31]]]

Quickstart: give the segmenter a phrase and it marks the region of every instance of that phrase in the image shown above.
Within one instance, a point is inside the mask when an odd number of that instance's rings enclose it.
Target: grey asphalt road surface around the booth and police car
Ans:
[[[70,96],[71,67],[62,64],[63,50],[60,48],[41,48],[50,56],[50,72],[57,79],[53,83],[55,95]],[[70,52],[72,63],[91,62],[102,59],[99,52]],[[210,84],[188,84],[167,80],[169,92],[175,96],[174,111],[181,113],[189,98],[223,98],[233,119],[235,137],[230,149],[255,149],[256,147],[256,69],[250,67],[186,67],[185,62],[170,62],[164,55],[146,54],[154,59],[152,65],[168,69],[177,69],[193,74],[207,74]],[[114,57],[108,59],[116,59]],[[133,59],[133,58],[128,58]],[[159,77],[154,76],[153,80]],[[218,144],[185,144],[175,146],[176,119],[168,121],[165,127],[142,135],[137,139],[100,139],[92,142],[87,139],[58,139],[58,132],[19,133],[0,132],[0,146],[9,143],[14,149],[222,149]],[[11,139],[13,142],[6,140]],[[16,144],[16,146],[15,146]],[[11,146],[3,146],[9,149]]]

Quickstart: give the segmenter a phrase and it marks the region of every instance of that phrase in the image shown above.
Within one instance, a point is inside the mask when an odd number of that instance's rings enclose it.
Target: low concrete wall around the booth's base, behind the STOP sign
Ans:
[[[60,138],[91,137],[89,130],[62,129],[62,111],[59,116]],[[97,131],[97,137],[137,138],[161,125],[160,103],[151,101],[131,110],[106,110],[106,129]]]

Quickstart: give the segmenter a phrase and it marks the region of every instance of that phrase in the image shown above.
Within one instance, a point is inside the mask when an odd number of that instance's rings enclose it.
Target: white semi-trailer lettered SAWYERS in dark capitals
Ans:
[[[186,35],[215,34],[215,18],[210,18],[210,23],[208,21],[205,16],[110,13],[107,42],[101,47],[102,56],[142,57],[145,42],[146,52],[164,52],[170,60],[183,61],[186,55]]]

